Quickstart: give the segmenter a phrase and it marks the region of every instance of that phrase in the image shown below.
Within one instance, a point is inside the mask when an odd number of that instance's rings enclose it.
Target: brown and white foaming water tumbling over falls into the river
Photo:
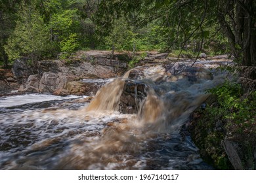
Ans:
[[[211,169],[181,128],[225,75],[197,67],[175,75],[173,68],[135,68],[102,86],[91,103],[0,103],[0,169]],[[137,114],[119,112],[127,79],[145,86],[131,92]]]

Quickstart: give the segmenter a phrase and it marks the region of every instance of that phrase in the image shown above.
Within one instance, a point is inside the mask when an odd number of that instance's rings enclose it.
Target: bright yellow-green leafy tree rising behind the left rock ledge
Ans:
[[[71,0],[47,0],[39,3],[51,35],[53,52],[65,52],[66,56],[79,46],[79,21],[74,4],[75,1]]]

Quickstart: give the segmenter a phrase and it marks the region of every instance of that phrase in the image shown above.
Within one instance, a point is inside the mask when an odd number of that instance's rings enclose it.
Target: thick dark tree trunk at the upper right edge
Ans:
[[[232,54],[243,66],[256,65],[255,10],[255,2],[244,0],[226,1],[218,12],[219,24],[228,37]],[[232,21],[226,20],[226,17],[231,17]]]

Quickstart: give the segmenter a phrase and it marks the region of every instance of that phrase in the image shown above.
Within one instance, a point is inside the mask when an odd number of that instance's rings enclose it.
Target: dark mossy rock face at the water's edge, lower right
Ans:
[[[231,169],[221,145],[225,132],[224,122],[219,120],[219,108],[207,107],[205,110],[199,110],[196,115],[200,117],[196,120],[196,129],[193,129],[192,137],[194,136],[193,139],[200,148],[200,154],[216,169]]]

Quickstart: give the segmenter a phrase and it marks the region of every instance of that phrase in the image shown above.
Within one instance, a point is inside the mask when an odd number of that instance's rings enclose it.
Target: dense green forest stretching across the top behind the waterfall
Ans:
[[[1,1],[1,62],[76,50],[232,52],[255,65],[253,1]]]

